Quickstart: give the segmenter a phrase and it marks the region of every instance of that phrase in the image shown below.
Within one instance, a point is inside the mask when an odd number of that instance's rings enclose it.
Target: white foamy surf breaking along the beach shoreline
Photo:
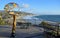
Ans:
[[[32,16],[25,16],[25,17],[23,17],[23,19],[25,19],[26,22],[30,22],[32,24],[40,24],[42,22],[42,19],[35,18],[35,17],[32,17]]]

